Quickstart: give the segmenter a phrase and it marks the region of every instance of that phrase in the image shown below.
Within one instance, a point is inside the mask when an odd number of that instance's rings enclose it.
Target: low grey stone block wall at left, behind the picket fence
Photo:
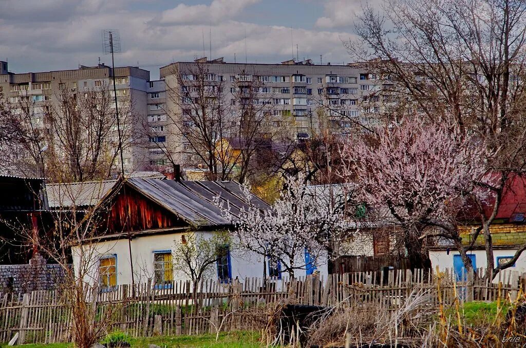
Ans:
[[[57,288],[64,281],[64,270],[58,264],[48,264],[42,256],[28,264],[0,265],[0,292],[31,292]]]

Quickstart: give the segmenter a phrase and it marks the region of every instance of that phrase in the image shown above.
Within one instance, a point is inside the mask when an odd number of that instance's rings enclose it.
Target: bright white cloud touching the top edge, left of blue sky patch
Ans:
[[[210,5],[179,4],[167,9],[154,21],[163,25],[218,24],[235,18],[243,9],[260,0],[214,0]]]

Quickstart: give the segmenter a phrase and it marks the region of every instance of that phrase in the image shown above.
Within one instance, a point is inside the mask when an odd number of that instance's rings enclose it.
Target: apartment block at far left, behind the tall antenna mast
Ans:
[[[113,86],[113,69],[104,64],[94,67],[79,66],[73,70],[46,71],[41,73],[14,74],[7,69],[7,62],[0,62],[0,87],[9,102],[13,105],[20,104],[23,100],[29,100],[33,105],[32,117],[35,127],[42,128],[51,139],[53,139],[53,126],[45,117],[49,113],[50,105],[58,105],[60,95],[64,88],[75,98],[82,98],[88,91],[106,91],[112,100],[117,99],[117,106],[129,111],[129,117],[133,122],[124,124],[123,128],[139,127],[144,123],[148,115],[147,105],[150,100],[148,94],[149,71],[139,69],[138,67],[116,67],[115,68],[115,87],[114,95]],[[115,112],[115,102],[110,103],[110,108]],[[116,116],[113,116],[114,119]],[[119,119],[121,119],[119,117]],[[123,132],[130,137],[136,137],[139,129],[128,129]],[[112,126],[110,136],[117,137],[116,126]],[[127,141],[130,140],[130,141]],[[52,140],[53,141],[53,140]],[[133,171],[144,167],[145,161],[148,161],[144,152],[144,145],[141,144],[143,139],[136,137],[125,139],[126,146],[123,151],[124,168],[126,171]],[[42,144],[44,148],[46,145]],[[115,149],[116,150],[116,149]],[[115,158],[115,171],[120,168],[120,156]]]

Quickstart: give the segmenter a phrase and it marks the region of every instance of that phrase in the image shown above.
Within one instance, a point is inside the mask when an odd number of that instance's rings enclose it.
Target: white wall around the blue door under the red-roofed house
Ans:
[[[499,258],[502,257],[512,257],[517,249],[495,249],[493,250],[494,262],[497,264]],[[485,268],[487,264],[487,258],[484,250],[472,250],[470,254],[474,255],[477,268]],[[433,250],[429,252],[429,258],[431,259],[432,267],[438,267],[441,270],[446,268],[453,268],[453,259],[454,255],[460,255],[456,250],[450,250],[449,255],[445,250]],[[523,252],[517,262],[515,262],[514,267],[510,267],[507,270],[518,271],[520,274],[526,272],[526,252]],[[498,278],[494,280],[498,282]]]

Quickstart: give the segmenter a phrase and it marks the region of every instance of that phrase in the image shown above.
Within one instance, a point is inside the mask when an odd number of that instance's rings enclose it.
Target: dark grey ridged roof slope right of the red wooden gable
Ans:
[[[180,218],[196,226],[230,224],[222,211],[214,203],[214,198],[228,200],[231,212],[237,216],[241,207],[247,203],[241,195],[240,185],[236,182],[219,181],[175,181],[133,178],[126,181],[128,185],[143,193]],[[259,207],[268,207],[256,196],[251,198]]]

